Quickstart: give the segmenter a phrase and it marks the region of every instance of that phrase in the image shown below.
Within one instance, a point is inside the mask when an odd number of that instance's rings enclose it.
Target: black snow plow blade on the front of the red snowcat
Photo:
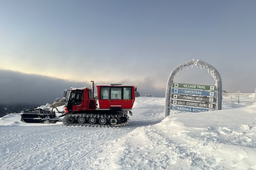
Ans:
[[[21,121],[26,123],[56,123],[57,121],[62,121],[57,118],[55,111],[49,111],[44,109],[33,109],[23,111],[21,113]]]

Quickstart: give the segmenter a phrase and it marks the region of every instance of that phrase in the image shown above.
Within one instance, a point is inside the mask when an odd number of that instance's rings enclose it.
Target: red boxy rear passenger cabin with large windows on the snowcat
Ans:
[[[100,109],[120,111],[132,109],[135,101],[135,87],[121,84],[97,85]]]

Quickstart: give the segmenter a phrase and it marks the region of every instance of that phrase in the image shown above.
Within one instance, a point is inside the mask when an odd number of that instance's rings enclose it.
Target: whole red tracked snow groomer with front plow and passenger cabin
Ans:
[[[65,113],[56,116],[55,112],[31,113],[25,111],[21,120],[25,122],[60,121],[63,117],[64,125],[85,126],[125,126],[129,122],[128,114],[132,115],[132,106],[135,102],[136,87],[132,85],[110,84],[97,85],[97,100],[94,98],[94,82],[92,88],[70,88],[64,90],[64,97],[70,91],[64,106]],[[39,110],[40,112],[40,110]],[[42,112],[42,111],[41,111]],[[36,117],[36,115],[38,117]],[[49,116],[50,115],[50,116]],[[35,118],[36,117],[36,118]]]

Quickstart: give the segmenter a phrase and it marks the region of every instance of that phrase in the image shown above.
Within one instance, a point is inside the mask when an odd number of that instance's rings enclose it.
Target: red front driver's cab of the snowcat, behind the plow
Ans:
[[[67,90],[65,90],[67,91]],[[70,88],[65,113],[74,111],[89,111],[96,109],[96,101],[92,99],[92,91],[85,88]]]

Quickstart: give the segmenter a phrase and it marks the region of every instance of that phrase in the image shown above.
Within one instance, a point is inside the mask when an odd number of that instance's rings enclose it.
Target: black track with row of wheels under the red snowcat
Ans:
[[[82,117],[82,118],[81,118]],[[85,119],[84,122],[80,119]],[[90,118],[95,118],[94,123],[90,123]],[[101,122],[101,118],[106,119],[106,122]],[[103,124],[104,123],[104,124]],[[63,124],[66,126],[89,126],[89,127],[122,127],[129,123],[129,117],[127,114],[68,114],[63,118]]]

